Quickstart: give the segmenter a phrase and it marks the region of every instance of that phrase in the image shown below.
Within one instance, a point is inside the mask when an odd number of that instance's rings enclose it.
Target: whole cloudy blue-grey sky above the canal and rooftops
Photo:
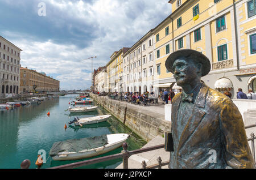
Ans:
[[[82,60],[105,66],[170,14],[168,0],[0,0],[0,36],[23,50],[22,67],[85,89],[92,64]]]

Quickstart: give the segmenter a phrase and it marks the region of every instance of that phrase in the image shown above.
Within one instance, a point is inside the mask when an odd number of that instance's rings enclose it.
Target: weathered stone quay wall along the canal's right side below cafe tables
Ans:
[[[98,96],[90,93],[90,97],[119,121],[122,123],[125,121],[125,126],[147,142],[158,135],[164,136],[164,132],[171,130],[171,122],[166,121],[164,115],[159,117],[154,112],[140,109],[139,105],[134,107],[128,102],[125,104],[123,101],[112,100],[108,96]]]

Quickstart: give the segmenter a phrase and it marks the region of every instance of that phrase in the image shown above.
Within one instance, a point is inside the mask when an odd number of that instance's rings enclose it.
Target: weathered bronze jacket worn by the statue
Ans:
[[[172,100],[174,152],[169,168],[253,168],[242,116],[229,97],[202,84],[192,115],[178,139],[180,102],[181,93]]]

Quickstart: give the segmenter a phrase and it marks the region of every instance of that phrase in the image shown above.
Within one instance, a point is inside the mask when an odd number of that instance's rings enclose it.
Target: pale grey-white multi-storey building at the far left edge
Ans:
[[[19,94],[22,49],[0,36],[0,95]]]

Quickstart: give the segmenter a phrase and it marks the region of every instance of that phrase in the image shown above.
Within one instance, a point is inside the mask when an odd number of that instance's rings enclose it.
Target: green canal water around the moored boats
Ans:
[[[21,108],[0,110],[0,169],[18,169],[20,163],[28,159],[31,161],[30,168],[36,168],[35,162],[39,152],[46,152],[46,164],[43,168],[69,164],[89,160],[96,157],[120,153],[122,147],[104,155],[73,161],[54,161],[49,157],[49,151],[55,142],[80,139],[104,134],[130,133],[131,130],[116,118],[110,117],[108,121],[95,125],[84,125],[82,127],[68,125],[75,117],[84,118],[96,115],[109,114],[98,105],[96,112],[70,114],[69,102],[77,95],[65,95],[51,100],[42,101],[41,104],[30,104]],[[86,105],[92,106],[93,104]],[[97,105],[97,104],[96,104]],[[47,113],[50,113],[48,116]],[[68,128],[65,130],[65,124]],[[141,141],[134,133],[126,140],[129,150],[139,149],[146,142]],[[122,163],[122,158],[101,162],[98,164],[83,166],[81,168],[116,168]]]

